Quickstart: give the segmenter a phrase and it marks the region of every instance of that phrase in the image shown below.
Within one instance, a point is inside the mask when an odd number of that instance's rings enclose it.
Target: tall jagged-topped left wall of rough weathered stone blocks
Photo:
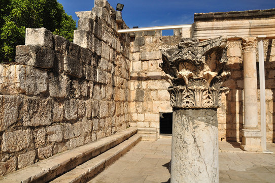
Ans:
[[[129,127],[127,26],[107,1],[78,16],[74,43],[27,29],[0,65],[0,175]]]

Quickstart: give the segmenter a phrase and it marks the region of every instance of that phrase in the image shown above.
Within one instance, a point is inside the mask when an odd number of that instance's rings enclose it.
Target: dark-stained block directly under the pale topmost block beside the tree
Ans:
[[[20,45],[16,46],[15,62],[39,67],[52,68],[54,61],[54,51],[48,47],[39,45]]]

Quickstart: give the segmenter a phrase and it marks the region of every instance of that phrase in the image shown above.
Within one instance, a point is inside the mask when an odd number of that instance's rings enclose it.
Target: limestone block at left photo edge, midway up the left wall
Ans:
[[[16,123],[21,102],[20,96],[0,96],[0,132]]]

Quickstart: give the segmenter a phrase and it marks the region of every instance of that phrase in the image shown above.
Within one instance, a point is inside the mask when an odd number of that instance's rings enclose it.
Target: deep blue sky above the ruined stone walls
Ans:
[[[92,0],[57,0],[68,15],[78,20],[76,11],[90,11]],[[275,0],[109,0],[112,7],[124,4],[122,18],[126,24],[148,27],[193,23],[194,13],[245,11],[275,8]]]

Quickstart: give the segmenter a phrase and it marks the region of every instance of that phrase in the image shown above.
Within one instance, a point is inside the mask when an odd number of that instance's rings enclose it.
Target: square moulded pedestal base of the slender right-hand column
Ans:
[[[242,134],[242,144],[240,148],[246,151],[262,151],[261,136],[262,133],[259,130],[247,130],[240,131]]]

